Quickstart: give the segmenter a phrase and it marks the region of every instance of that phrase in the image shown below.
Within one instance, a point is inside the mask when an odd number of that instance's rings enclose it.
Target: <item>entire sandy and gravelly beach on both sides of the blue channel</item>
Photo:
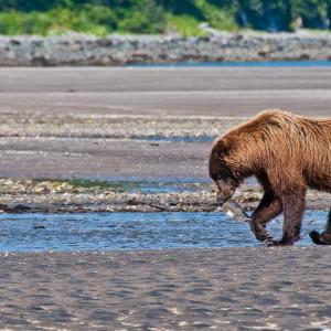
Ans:
[[[111,203],[214,210],[206,169],[214,137],[265,108],[330,117],[331,67],[0,68],[0,77],[2,213],[109,212]],[[190,192],[113,186],[182,178]],[[259,197],[248,182],[236,199],[249,207]],[[309,192],[308,206],[327,210],[330,194]],[[328,247],[0,259],[3,330],[331,329]]]

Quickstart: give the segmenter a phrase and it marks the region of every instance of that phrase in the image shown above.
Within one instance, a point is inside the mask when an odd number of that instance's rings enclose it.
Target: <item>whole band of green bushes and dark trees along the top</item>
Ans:
[[[331,0],[1,0],[1,34],[70,31],[201,35],[216,30],[291,31],[331,28]]]

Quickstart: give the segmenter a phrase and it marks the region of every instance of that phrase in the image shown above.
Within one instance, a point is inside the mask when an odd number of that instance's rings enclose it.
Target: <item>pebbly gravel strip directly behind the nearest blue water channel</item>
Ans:
[[[88,186],[86,186],[86,184]],[[105,184],[107,186],[105,188]],[[156,190],[162,189],[162,182]],[[136,185],[136,188],[135,188]],[[134,188],[132,188],[134,186]],[[190,191],[186,191],[188,189]],[[131,192],[128,192],[130,190]],[[85,182],[0,180],[2,213],[67,213],[67,212],[231,212],[242,220],[239,210],[231,204],[222,209],[215,203],[212,183],[186,183],[170,193],[142,193],[137,182]],[[136,192],[132,192],[136,191]],[[246,184],[237,190],[233,201],[249,211],[257,205],[263,192],[258,185]],[[307,207],[328,210],[330,196],[309,191]]]

